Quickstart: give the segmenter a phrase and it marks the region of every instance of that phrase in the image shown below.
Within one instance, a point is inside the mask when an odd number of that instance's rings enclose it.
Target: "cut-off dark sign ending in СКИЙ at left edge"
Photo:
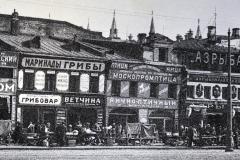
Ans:
[[[18,62],[17,53],[1,52],[0,53],[0,67],[16,68]]]

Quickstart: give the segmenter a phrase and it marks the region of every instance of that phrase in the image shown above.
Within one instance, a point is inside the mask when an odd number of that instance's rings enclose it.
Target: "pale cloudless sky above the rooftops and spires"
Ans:
[[[214,24],[217,13],[217,34],[227,35],[228,28],[240,27],[239,0],[0,0],[0,13],[63,20],[100,31],[109,36],[113,10],[121,39],[130,33],[148,33],[151,12],[154,12],[155,31],[175,40],[191,28],[196,33],[200,19],[203,37],[207,26]]]

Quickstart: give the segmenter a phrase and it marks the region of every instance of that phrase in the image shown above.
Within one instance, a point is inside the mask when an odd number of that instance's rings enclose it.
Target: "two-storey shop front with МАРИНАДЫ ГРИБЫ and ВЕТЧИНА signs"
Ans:
[[[17,120],[102,124],[105,63],[67,58],[22,56],[18,72]]]

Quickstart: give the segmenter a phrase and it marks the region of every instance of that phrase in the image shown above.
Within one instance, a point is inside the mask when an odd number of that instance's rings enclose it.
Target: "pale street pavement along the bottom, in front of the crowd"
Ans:
[[[224,149],[89,149],[1,150],[1,160],[239,160],[240,150]]]

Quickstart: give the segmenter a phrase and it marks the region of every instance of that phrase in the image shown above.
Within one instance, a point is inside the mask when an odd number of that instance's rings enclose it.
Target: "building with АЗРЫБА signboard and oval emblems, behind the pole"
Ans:
[[[184,125],[226,126],[228,48],[218,43],[214,26],[208,29],[207,39],[190,37],[174,46],[179,63],[185,66],[180,105],[180,123]],[[231,48],[231,54],[232,102],[235,119],[239,120],[239,51]]]

